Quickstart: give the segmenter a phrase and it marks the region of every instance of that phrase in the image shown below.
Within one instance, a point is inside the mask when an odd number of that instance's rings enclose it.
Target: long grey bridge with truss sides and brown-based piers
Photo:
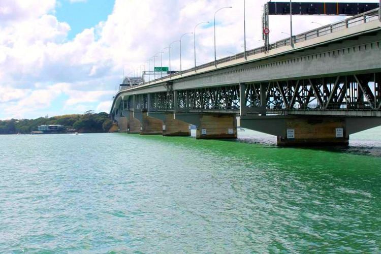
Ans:
[[[278,145],[348,144],[381,125],[379,8],[171,73],[121,85],[110,115],[120,132],[237,138],[238,126]],[[293,40],[293,41],[291,41]],[[238,116],[238,120],[237,120]]]

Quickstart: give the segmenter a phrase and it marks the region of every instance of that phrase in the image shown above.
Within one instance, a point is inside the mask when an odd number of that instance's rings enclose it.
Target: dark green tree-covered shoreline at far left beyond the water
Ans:
[[[10,119],[0,120],[0,135],[31,134],[38,130],[40,125],[59,124],[64,128],[56,133],[107,133],[117,132],[118,126],[113,123],[106,112],[84,114],[70,114],[53,117],[39,117],[37,119]],[[44,133],[45,134],[45,133]]]

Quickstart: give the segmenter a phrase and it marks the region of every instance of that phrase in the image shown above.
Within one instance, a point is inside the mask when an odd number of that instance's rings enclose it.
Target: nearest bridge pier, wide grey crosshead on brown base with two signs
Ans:
[[[380,117],[241,116],[241,126],[277,136],[278,146],[348,145],[351,134],[381,125]]]

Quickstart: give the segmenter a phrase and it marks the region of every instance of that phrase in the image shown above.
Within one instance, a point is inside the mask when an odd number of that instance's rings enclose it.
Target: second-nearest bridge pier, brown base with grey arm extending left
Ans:
[[[175,118],[196,125],[196,139],[237,138],[236,114],[175,113]]]

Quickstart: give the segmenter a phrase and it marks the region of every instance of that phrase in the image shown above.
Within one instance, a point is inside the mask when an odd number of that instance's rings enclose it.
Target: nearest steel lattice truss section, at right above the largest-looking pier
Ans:
[[[246,107],[263,105],[262,92],[267,109],[380,110],[381,73],[248,84]]]

